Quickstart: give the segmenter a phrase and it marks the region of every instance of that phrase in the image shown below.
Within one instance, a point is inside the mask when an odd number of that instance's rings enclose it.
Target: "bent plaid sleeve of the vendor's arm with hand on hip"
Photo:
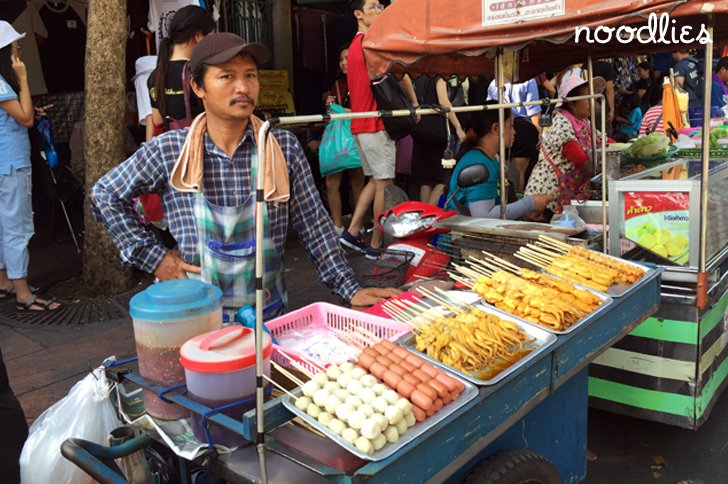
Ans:
[[[91,189],[94,218],[103,223],[123,263],[154,273],[167,254],[154,234],[144,229],[132,199],[166,183],[159,138],[145,143],[128,160],[102,176]]]

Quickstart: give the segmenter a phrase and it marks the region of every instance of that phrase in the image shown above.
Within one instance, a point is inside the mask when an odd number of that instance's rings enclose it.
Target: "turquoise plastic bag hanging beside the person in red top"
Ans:
[[[338,104],[332,104],[330,109],[337,114],[346,112]],[[319,165],[321,176],[361,166],[354,135],[351,134],[351,120],[336,119],[326,126],[319,147]]]

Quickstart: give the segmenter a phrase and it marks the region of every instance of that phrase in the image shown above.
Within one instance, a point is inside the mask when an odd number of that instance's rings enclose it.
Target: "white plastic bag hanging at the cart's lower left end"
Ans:
[[[112,389],[103,367],[96,368],[33,422],[20,455],[24,484],[94,482],[61,455],[61,444],[69,438],[108,444],[109,433],[122,425],[109,399]]]

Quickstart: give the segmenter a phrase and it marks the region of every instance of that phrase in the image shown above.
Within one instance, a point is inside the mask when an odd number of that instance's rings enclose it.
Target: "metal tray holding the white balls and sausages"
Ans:
[[[424,422],[417,422],[415,425],[413,425],[411,428],[407,430],[407,432],[404,434],[403,437],[401,437],[397,442],[394,443],[387,443],[384,447],[381,449],[375,451],[372,455],[365,454],[364,452],[360,451],[356,448],[356,446],[350,444],[341,436],[335,434],[331,431],[328,427],[325,425],[321,425],[318,420],[312,418],[309,416],[306,412],[299,410],[296,408],[295,402],[291,400],[291,397],[286,396],[282,398],[283,406],[286,407],[288,410],[293,412],[296,416],[300,417],[302,420],[304,420],[306,423],[311,425],[313,428],[324,434],[326,437],[330,438],[340,446],[342,446],[347,451],[351,452],[355,456],[359,457],[360,459],[369,460],[369,461],[378,461],[386,459],[387,457],[390,457],[392,454],[397,452],[399,449],[404,447],[405,445],[409,444],[415,439],[418,439],[422,437],[427,431],[429,431],[432,427],[437,425],[438,423],[445,420],[448,416],[450,416],[453,412],[455,412],[457,409],[474,399],[476,396],[478,396],[478,388],[470,383],[467,380],[464,380],[463,378],[460,378],[459,376],[455,375],[452,371],[447,371],[446,373],[463,382],[465,385],[465,389],[460,394],[457,400],[454,402],[448,403],[439,412],[435,412],[432,417],[427,418]],[[292,392],[296,397],[301,395],[301,388],[296,388]]]

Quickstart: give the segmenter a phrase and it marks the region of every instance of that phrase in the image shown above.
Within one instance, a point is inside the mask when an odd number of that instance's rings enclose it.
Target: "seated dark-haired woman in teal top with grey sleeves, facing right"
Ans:
[[[497,104],[486,101],[486,104]],[[510,109],[504,109],[503,139],[510,148],[515,139]],[[500,135],[498,111],[489,109],[473,113],[470,129],[475,133],[474,140],[468,140],[459,155],[458,164],[450,177],[448,193],[455,193],[446,208],[457,210],[471,217],[500,218]],[[472,187],[459,188],[460,172],[473,165],[483,165],[487,170],[485,182]],[[508,183],[508,182],[506,182]],[[509,191],[510,192],[510,191]],[[531,212],[542,212],[551,200],[551,195],[533,195],[515,200],[515,192],[509,193],[506,217],[515,220]]]

